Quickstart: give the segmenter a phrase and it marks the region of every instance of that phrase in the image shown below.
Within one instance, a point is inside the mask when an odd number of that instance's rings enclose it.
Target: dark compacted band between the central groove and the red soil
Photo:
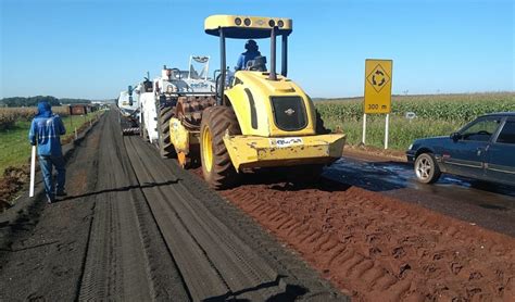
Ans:
[[[140,183],[172,181],[143,193],[193,300],[348,301],[175,161],[137,138],[125,143]]]

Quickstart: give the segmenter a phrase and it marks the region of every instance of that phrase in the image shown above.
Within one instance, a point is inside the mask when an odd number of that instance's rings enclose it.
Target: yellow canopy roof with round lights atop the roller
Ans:
[[[291,18],[285,17],[212,15],[204,22],[206,34],[219,36],[223,28],[225,37],[234,39],[269,38],[274,27],[277,36],[288,36],[293,30]]]

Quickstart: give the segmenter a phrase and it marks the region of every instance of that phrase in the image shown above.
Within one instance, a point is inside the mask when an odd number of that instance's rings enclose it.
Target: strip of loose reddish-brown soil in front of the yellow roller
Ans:
[[[353,300],[515,301],[511,237],[327,181],[221,193]]]

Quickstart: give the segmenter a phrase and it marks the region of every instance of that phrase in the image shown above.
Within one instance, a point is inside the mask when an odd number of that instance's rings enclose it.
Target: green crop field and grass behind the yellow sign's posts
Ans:
[[[340,128],[356,146],[363,131],[363,98],[315,101],[326,127]],[[389,148],[405,151],[416,138],[449,136],[478,115],[515,111],[515,92],[393,96]],[[406,118],[413,112],[416,117]],[[382,148],[385,115],[367,115],[366,144]]]

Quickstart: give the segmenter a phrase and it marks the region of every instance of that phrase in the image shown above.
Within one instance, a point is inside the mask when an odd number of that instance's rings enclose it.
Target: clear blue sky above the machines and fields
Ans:
[[[190,54],[219,66],[212,14],[293,20],[289,77],[312,97],[362,96],[365,59],[393,60],[393,93],[513,91],[514,1],[0,0],[0,98],[115,98]],[[258,41],[269,58],[267,41]],[[233,67],[242,40],[229,40]]]

